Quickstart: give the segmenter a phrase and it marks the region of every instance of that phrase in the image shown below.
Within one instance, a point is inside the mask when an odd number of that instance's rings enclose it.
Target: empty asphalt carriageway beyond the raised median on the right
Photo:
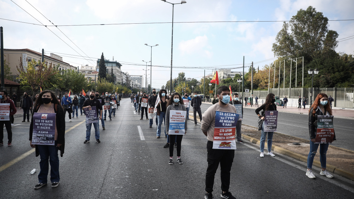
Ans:
[[[212,104],[202,103],[202,113],[210,106],[212,106]],[[255,109],[244,107],[243,116],[244,120],[242,120],[242,124],[258,127],[258,116],[256,115]],[[354,151],[354,120],[334,118],[333,126],[337,140],[331,145]],[[309,140],[308,115],[278,112],[278,126],[276,132]]]

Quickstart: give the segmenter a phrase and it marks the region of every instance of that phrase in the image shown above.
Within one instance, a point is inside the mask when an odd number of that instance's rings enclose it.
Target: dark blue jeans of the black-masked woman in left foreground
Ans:
[[[40,183],[47,183],[49,164],[50,163],[50,181],[59,182],[59,157],[58,157],[58,147],[56,147],[57,143],[55,141],[55,145],[39,145],[37,144],[39,155],[41,161],[39,162],[39,166],[41,170],[38,174],[38,181]]]

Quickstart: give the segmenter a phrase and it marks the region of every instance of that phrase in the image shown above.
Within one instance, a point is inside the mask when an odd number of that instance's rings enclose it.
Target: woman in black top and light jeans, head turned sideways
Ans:
[[[260,106],[259,108],[256,109],[256,114],[258,115],[258,118],[261,118],[261,120],[264,120],[264,113],[266,110],[276,110],[276,105],[275,105],[275,95],[273,93],[269,93],[267,97],[265,98],[264,104]],[[262,111],[262,115],[259,114],[259,111]],[[275,155],[272,153],[272,143],[273,143],[273,133],[274,132],[264,132],[264,122],[261,128],[261,142],[259,143],[259,148],[261,149],[261,154],[259,157],[264,157],[264,142],[265,142],[265,137],[267,137],[267,146],[268,146],[268,155],[274,157]]]

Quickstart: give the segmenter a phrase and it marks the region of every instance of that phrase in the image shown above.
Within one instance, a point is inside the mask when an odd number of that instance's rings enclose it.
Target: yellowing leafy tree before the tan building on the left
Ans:
[[[26,60],[28,62],[28,58]],[[57,74],[57,70],[52,66],[52,63],[34,61],[27,63],[27,66],[23,66],[22,59],[20,58],[19,66],[16,66],[19,72],[20,84],[31,86],[32,91],[36,91],[40,86],[44,84],[49,78]]]

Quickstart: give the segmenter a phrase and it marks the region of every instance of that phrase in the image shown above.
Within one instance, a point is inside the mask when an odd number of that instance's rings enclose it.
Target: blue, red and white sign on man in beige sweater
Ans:
[[[236,149],[235,132],[239,114],[216,111],[213,149]]]

